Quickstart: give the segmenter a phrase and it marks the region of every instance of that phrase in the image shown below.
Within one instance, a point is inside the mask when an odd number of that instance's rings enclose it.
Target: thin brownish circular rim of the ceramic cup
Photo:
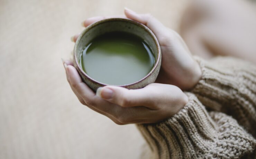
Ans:
[[[155,36],[155,34],[153,33],[152,30],[150,30],[147,26],[145,26],[144,24],[141,24],[137,21],[134,21],[134,20],[131,20],[131,19],[126,19],[126,18],[108,18],[108,19],[103,19],[103,20],[100,20],[100,21],[97,21],[91,25],[89,25],[88,27],[86,27],[82,32],[81,34],[79,35],[79,37],[77,38],[76,40],[76,43],[75,43],[75,47],[74,47],[74,59],[75,59],[75,63],[77,65],[77,68],[80,70],[80,72],[86,76],[86,78],[88,78],[91,82],[93,83],[98,83],[100,85],[103,85],[103,86],[106,86],[106,85],[109,85],[109,84],[106,84],[106,83],[102,83],[102,82],[99,82],[99,81],[96,81],[95,79],[91,78],[89,75],[87,75],[83,69],[81,68],[81,66],[79,65],[78,63],[78,60],[77,60],[77,57],[76,57],[76,54],[77,54],[77,47],[78,47],[78,44],[81,40],[81,38],[83,37],[83,35],[88,31],[90,30],[91,28],[93,28],[94,26],[97,26],[97,25],[100,25],[102,23],[105,23],[105,22],[109,22],[109,21],[127,21],[127,22],[130,22],[130,23],[133,23],[135,25],[137,25],[138,27],[141,27],[143,28],[144,30],[146,30],[146,32],[148,32],[148,34],[153,38],[154,42],[155,42],[155,45],[156,45],[156,48],[157,48],[157,59],[156,59],[156,62],[154,64],[154,67],[150,70],[150,72],[144,76],[143,78],[141,78],[139,81],[135,81],[133,83],[130,83],[130,84],[124,84],[124,85],[114,85],[114,86],[120,86],[120,87],[128,87],[128,86],[131,86],[131,85],[134,85],[136,83],[139,83],[141,81],[143,81],[144,79],[146,79],[148,76],[150,76],[154,70],[156,69],[157,65],[159,64],[159,61],[160,61],[160,58],[161,58],[161,49],[160,49],[160,45],[158,43],[158,40]]]

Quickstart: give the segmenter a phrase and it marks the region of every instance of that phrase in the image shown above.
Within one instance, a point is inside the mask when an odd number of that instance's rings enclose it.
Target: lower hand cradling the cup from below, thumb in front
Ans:
[[[158,83],[137,90],[104,86],[96,95],[82,82],[71,61],[65,61],[64,67],[67,81],[79,101],[119,125],[159,122],[170,118],[188,102],[180,88]]]

